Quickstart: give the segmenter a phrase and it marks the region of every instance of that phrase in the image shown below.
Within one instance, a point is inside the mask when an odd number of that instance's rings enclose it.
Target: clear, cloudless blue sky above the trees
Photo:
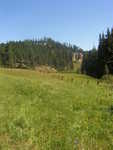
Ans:
[[[113,26],[113,0],[0,0],[0,42],[51,37],[83,49]]]

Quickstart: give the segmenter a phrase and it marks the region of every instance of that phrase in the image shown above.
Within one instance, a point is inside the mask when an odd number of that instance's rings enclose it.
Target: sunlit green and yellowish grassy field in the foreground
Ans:
[[[0,150],[112,150],[113,80],[0,70]]]

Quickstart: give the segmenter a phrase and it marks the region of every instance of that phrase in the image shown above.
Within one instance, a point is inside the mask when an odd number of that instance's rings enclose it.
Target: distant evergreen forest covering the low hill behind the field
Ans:
[[[0,66],[10,68],[35,68],[48,65],[57,70],[73,69],[73,52],[77,46],[61,44],[51,38],[10,41],[0,44]]]

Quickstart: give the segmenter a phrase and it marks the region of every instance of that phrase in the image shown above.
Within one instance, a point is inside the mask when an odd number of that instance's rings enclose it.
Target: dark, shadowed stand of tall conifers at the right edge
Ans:
[[[99,35],[98,49],[84,52],[81,72],[96,78],[113,74],[113,28]]]

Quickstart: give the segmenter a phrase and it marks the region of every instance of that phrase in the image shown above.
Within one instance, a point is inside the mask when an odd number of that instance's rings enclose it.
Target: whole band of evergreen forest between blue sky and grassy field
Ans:
[[[74,53],[83,53],[81,73],[96,78],[113,74],[113,28],[100,34],[98,48],[90,51],[51,38],[1,43],[0,66],[34,69],[48,65],[56,70],[72,70]]]

